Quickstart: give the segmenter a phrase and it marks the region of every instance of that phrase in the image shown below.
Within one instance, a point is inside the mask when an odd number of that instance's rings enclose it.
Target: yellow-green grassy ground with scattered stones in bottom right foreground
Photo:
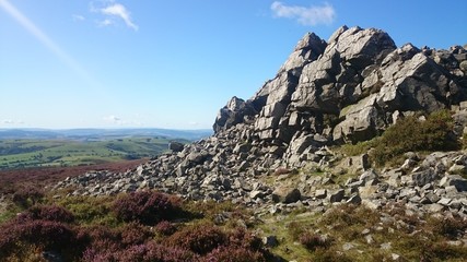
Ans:
[[[399,254],[400,261],[465,261],[467,249],[447,242],[455,239],[453,233],[466,229],[462,218],[411,217],[401,211],[386,212],[395,219],[382,222],[377,211],[343,204],[325,214],[269,215],[257,228],[265,236],[278,238],[279,246],[271,251],[288,261],[392,261],[392,253]],[[398,228],[399,222],[412,228]],[[363,234],[364,230],[369,233]],[[307,250],[300,240],[307,233],[327,236],[327,245]],[[366,235],[374,242],[366,242]],[[354,248],[345,251],[345,243]],[[381,248],[384,243],[390,243],[389,250]]]

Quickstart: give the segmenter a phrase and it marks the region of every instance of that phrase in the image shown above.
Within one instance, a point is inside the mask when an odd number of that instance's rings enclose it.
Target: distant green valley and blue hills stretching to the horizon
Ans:
[[[171,141],[188,143],[210,133],[163,129],[0,130],[0,170],[150,158],[166,152]]]

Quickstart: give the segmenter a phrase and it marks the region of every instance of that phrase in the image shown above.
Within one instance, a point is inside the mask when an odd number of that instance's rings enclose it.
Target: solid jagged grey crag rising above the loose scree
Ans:
[[[316,144],[369,140],[405,115],[459,105],[467,97],[460,67],[466,56],[459,46],[397,48],[374,28],[342,26],[327,43],[306,34],[276,78],[244,106],[232,109],[231,100],[221,109],[220,116],[230,117],[218,117],[214,131],[252,126],[257,141],[282,146],[293,164]]]

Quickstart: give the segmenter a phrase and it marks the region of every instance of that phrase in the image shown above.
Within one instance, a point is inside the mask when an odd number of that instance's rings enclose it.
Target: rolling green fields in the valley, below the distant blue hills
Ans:
[[[105,141],[4,140],[0,142],[0,169],[79,166],[159,155],[170,140],[153,138]]]

